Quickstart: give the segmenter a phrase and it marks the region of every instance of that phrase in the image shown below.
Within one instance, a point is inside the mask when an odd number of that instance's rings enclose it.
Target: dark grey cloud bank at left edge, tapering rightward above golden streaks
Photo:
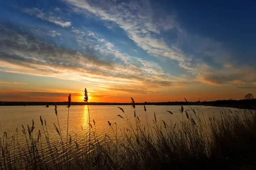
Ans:
[[[14,71],[37,70],[35,73],[40,74],[58,74],[66,72],[69,69],[73,71],[104,71],[110,70],[110,62],[103,61],[99,57],[85,55],[78,51],[68,48],[59,47],[54,43],[47,43],[37,40],[29,33],[20,33],[12,28],[3,28],[0,30],[0,61],[2,67],[13,67]],[[15,68],[15,65],[18,67]],[[26,67],[26,69],[25,69]],[[9,68],[10,69],[10,68]],[[65,69],[62,71],[61,69]],[[96,70],[95,70],[96,69]],[[10,69],[11,71],[11,69]],[[84,72],[86,73],[86,72]],[[102,72],[103,73],[103,72]]]

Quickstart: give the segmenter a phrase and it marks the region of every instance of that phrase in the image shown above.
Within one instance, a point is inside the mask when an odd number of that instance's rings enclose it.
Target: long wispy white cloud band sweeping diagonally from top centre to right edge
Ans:
[[[224,85],[239,79],[250,81],[255,78],[250,72],[246,73],[250,74],[246,78],[236,72],[234,68],[238,67],[242,71],[247,66],[236,64],[227,45],[209,37],[189,34],[177,23],[174,13],[159,14],[159,10],[151,6],[149,1],[63,1],[76,13],[93,16],[96,20],[108,24],[114,23],[148,54],[177,62],[180,68],[192,73],[198,81]],[[166,31],[177,36],[173,40],[168,40],[171,43],[161,38],[166,37]],[[112,48],[111,44],[109,46]]]

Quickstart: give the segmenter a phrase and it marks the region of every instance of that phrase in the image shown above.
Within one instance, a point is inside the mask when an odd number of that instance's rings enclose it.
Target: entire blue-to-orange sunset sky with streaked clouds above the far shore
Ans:
[[[256,94],[256,2],[0,0],[0,101]]]

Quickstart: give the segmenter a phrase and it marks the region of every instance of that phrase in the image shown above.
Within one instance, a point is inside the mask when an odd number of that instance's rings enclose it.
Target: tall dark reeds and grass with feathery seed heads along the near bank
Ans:
[[[85,102],[88,101],[85,89]],[[71,101],[71,95],[69,96]],[[108,121],[113,137],[105,134],[99,141],[96,123],[90,123],[89,134],[83,132],[82,141],[76,135],[67,133],[64,138],[58,122],[55,106],[59,143],[49,139],[46,120],[40,117],[43,132],[35,132],[34,121],[24,126],[23,136],[12,136],[6,132],[0,137],[0,170],[82,170],[82,169],[239,169],[255,168],[256,164],[256,113],[250,111],[222,111],[221,116],[206,118],[204,113],[192,108],[180,108],[182,119],[179,123],[167,123],[157,120],[154,114],[153,124],[147,120],[140,123],[136,114],[136,105],[132,99],[134,120],[128,119],[120,109],[117,115],[125,121],[127,127],[117,130],[118,122]],[[69,109],[72,109],[68,105]],[[89,108],[88,108],[89,113]],[[171,111],[170,119],[178,119]],[[135,121],[133,126],[132,121]],[[65,128],[65,127],[64,127]],[[68,128],[68,125],[67,125]],[[25,140],[25,143],[21,141]],[[46,147],[44,147],[46,146]],[[47,153],[48,156],[47,156]]]

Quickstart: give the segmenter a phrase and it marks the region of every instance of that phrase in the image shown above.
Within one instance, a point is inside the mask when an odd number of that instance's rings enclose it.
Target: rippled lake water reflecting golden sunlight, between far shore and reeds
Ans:
[[[126,123],[123,119],[118,117],[117,115],[121,115],[125,118],[124,113],[119,110],[117,107],[121,107],[124,109],[127,117],[131,119],[131,122],[134,123],[134,109],[129,105],[90,105],[90,119],[91,124],[93,126],[93,130],[96,130],[99,141],[104,139],[105,134],[108,136],[114,137],[114,133],[111,132],[111,128],[108,125],[108,121],[113,125],[116,122],[117,130],[124,129]],[[172,121],[173,123],[178,122],[178,119],[182,119],[182,115],[179,111],[181,106],[155,106],[155,105],[147,105],[147,116],[148,123],[152,124],[154,119],[154,113],[156,114],[157,121],[164,120],[167,124]],[[184,110],[188,109],[189,106],[184,106]],[[204,113],[206,119],[209,116],[215,115],[218,117],[220,112],[223,110],[228,111],[229,109],[232,112],[238,111],[235,108],[220,108],[220,107],[211,107],[211,106],[191,106],[194,108],[197,113]],[[172,111],[172,113],[177,116],[171,115],[166,112],[167,110]],[[61,127],[61,132],[64,138],[66,138],[67,134],[67,113],[68,108],[66,106],[58,106],[58,119]],[[145,119],[145,111],[143,105],[136,106],[137,116],[140,118],[141,124],[146,124]],[[10,137],[15,133],[16,128],[18,128],[19,137],[22,138],[21,129],[24,125],[27,128],[27,125],[32,125],[32,119],[35,122],[35,130],[34,134],[41,130],[43,132],[43,128],[40,122],[40,116],[42,116],[43,120],[46,119],[47,128],[49,132],[49,139],[51,143],[59,143],[60,138],[58,133],[56,132],[53,123],[58,126],[57,117],[55,115],[54,106],[49,106],[46,108],[44,106],[1,106],[0,107],[0,136],[3,136],[4,132],[7,132],[7,135]],[[95,125],[93,125],[93,119],[95,121]],[[69,110],[69,133],[75,137],[76,140],[81,142],[84,139],[84,134],[89,133],[89,117],[88,117],[88,108],[87,105],[84,106],[71,106]],[[82,130],[83,129],[83,130]],[[118,133],[120,135],[122,133]],[[22,142],[23,141],[23,142]],[[20,144],[25,143],[25,140],[21,140]],[[45,144],[44,147],[47,147]]]

